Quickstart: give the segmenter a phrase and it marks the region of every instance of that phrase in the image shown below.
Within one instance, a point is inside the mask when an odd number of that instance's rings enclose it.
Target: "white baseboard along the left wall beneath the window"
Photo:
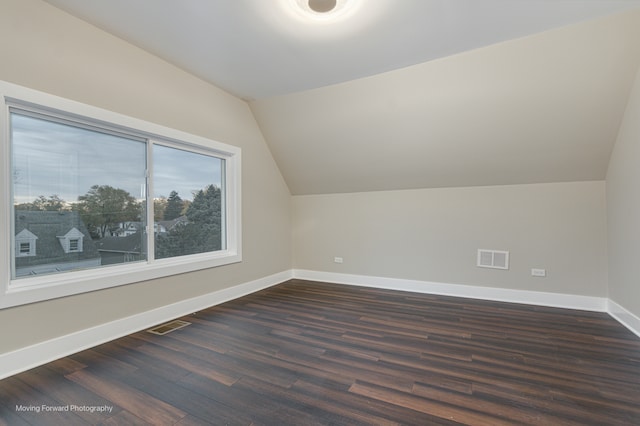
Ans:
[[[0,379],[119,337],[145,330],[156,324],[280,284],[291,278],[291,270],[283,271],[224,290],[215,291],[204,296],[182,300],[151,311],[142,312],[127,318],[118,319],[76,333],[20,348],[13,352],[0,354]]]

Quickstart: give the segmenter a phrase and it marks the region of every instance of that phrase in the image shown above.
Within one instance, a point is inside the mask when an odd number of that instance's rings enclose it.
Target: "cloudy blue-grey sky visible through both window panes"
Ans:
[[[14,202],[40,195],[77,201],[93,185],[144,198],[146,144],[114,134],[12,113]],[[154,197],[177,191],[184,200],[221,184],[223,160],[161,145],[153,147]]]

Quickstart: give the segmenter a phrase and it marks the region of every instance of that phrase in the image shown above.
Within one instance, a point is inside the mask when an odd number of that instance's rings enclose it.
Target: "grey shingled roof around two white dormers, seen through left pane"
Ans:
[[[60,244],[59,236],[66,235],[74,228],[85,237],[83,238],[82,251],[65,253]],[[38,237],[36,255],[16,257],[17,268],[100,257],[78,212],[17,210],[15,212],[16,235],[24,230],[28,230]]]

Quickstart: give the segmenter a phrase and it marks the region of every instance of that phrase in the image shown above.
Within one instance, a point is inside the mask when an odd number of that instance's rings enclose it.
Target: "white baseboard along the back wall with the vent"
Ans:
[[[303,280],[412,291],[415,293],[439,294],[442,296],[525,303],[528,305],[581,309],[596,312],[607,311],[607,299],[604,297],[576,296],[573,294],[545,293],[540,291],[512,290],[463,284],[443,284],[429,281],[309,271],[305,269],[294,269],[293,277]]]

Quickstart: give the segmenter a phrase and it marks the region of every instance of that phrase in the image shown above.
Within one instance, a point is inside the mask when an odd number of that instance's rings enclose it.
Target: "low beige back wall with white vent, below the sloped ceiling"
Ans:
[[[602,181],[294,196],[292,203],[296,269],[607,294]],[[511,268],[477,268],[479,248],[509,250]],[[548,275],[532,277],[531,268]]]

